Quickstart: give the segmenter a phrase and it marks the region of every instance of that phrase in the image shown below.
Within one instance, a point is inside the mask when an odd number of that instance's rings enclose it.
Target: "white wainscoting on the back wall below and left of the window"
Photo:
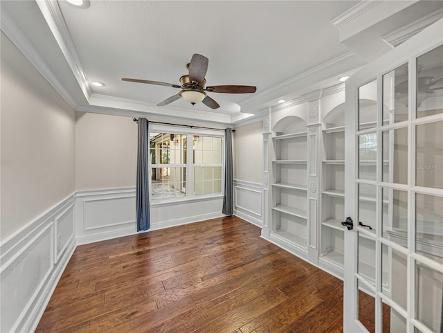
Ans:
[[[224,216],[223,197],[205,197],[174,202],[150,202],[150,231]],[[75,204],[77,244],[134,235],[136,189],[79,191]]]

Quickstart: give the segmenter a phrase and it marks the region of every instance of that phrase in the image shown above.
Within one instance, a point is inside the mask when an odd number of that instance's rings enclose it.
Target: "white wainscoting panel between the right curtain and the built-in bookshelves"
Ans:
[[[234,214],[263,226],[263,188],[260,183],[234,180]]]

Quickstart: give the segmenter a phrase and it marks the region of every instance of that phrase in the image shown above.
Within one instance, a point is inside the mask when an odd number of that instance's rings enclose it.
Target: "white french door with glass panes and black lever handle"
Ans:
[[[443,19],[346,82],[345,127],[344,332],[443,333]]]

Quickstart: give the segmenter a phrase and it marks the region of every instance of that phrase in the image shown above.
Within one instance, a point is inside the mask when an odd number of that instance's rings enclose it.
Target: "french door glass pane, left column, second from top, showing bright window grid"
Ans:
[[[377,133],[359,135],[359,179],[377,180]]]

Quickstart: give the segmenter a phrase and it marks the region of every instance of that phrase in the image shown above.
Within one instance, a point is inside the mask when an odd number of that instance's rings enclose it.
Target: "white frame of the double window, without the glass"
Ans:
[[[152,198],[152,183],[151,177],[149,177],[150,181],[150,205],[163,205],[163,204],[174,204],[177,202],[183,201],[195,201],[195,200],[204,200],[204,199],[214,199],[218,197],[224,196],[224,181],[225,181],[225,132],[223,129],[204,129],[204,128],[195,128],[195,127],[183,127],[183,126],[174,126],[174,125],[161,125],[156,123],[150,123],[149,125],[149,134],[150,138],[151,133],[163,133],[163,134],[185,134],[187,136],[187,148],[186,148],[186,164],[184,164],[186,168],[186,195],[184,197],[174,197],[174,198],[162,198],[162,199],[153,199]],[[193,136],[215,136],[221,138],[221,193],[208,194],[208,195],[194,195],[194,159],[192,156],[193,147],[192,147],[192,138]],[[183,165],[177,165],[183,166]],[[201,165],[197,165],[201,166]],[[152,168],[164,168],[163,165],[156,165],[155,167],[149,163],[148,168],[149,172],[151,172]],[[151,173],[150,173],[151,174]]]

